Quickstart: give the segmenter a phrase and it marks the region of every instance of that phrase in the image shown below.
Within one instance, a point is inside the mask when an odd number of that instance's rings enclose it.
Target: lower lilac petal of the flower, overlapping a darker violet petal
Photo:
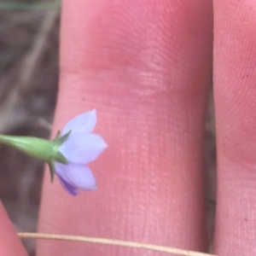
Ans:
[[[62,185],[64,188],[70,193],[73,188],[83,190],[96,189],[95,177],[87,166],[55,163],[55,172],[58,177],[61,177],[60,180],[62,179]]]

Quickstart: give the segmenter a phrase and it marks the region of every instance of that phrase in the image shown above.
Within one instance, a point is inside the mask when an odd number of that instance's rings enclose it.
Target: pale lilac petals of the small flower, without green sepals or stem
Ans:
[[[92,133],[96,126],[96,110],[91,110],[70,120],[61,136],[69,131],[67,140],[58,151],[67,159],[67,164],[54,162],[55,174],[62,186],[72,195],[78,195],[79,189],[96,189],[96,180],[90,169],[85,166],[102,154],[107,144],[102,137]]]

